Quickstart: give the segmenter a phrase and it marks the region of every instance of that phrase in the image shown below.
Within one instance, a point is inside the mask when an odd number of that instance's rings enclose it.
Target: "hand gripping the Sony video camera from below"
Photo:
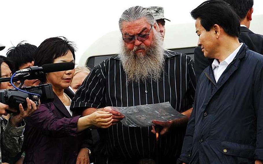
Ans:
[[[29,98],[27,97],[26,110],[23,109],[22,104],[19,104],[20,113],[17,115],[13,115],[10,119],[10,123],[15,127],[19,126],[20,122],[22,122],[24,118],[31,115],[37,108],[38,106],[36,106],[36,104],[32,100],[29,100]]]

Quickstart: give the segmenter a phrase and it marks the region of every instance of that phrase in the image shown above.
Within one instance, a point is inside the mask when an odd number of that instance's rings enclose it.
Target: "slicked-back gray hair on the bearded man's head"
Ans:
[[[119,20],[120,30],[122,30],[123,21],[132,22],[141,18],[145,18],[146,21],[150,23],[150,25],[153,25],[155,23],[153,15],[146,8],[143,8],[141,6],[133,6],[131,8],[128,8],[122,13],[121,18]]]

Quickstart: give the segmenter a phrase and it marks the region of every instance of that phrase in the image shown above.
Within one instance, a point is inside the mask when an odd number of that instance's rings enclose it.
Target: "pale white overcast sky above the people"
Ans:
[[[0,43],[8,48],[25,40],[39,46],[42,41],[64,36],[77,46],[76,63],[86,49],[104,34],[118,30],[118,20],[129,7],[140,5],[162,6],[164,16],[171,20],[166,25],[190,23],[190,12],[204,0],[3,0],[0,7]],[[254,0],[253,15],[263,14],[263,1]]]

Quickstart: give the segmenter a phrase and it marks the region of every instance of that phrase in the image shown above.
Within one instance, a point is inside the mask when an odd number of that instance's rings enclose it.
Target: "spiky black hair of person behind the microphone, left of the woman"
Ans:
[[[17,46],[10,47],[6,53],[6,56],[15,64],[15,71],[19,70],[19,67],[23,64],[34,61],[34,53],[37,46],[23,42],[18,43]]]

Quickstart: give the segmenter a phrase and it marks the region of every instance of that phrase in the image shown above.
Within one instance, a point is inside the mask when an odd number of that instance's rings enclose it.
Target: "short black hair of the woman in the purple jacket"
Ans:
[[[67,38],[53,37],[44,40],[37,48],[34,55],[35,66],[42,66],[43,64],[51,64],[54,59],[64,56],[71,51],[75,60],[75,44],[67,40]],[[40,79],[45,82],[46,79]]]

